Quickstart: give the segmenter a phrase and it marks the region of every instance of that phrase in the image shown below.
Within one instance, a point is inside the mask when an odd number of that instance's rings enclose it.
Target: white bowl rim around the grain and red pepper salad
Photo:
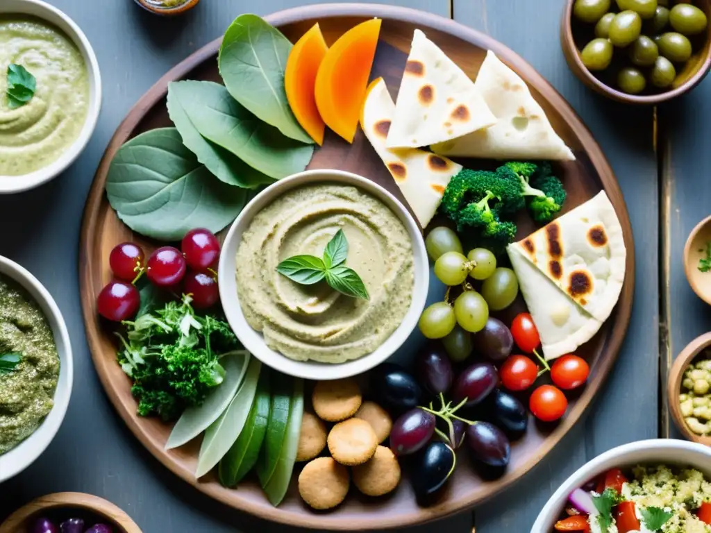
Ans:
[[[711,448],[707,446],[670,438],[655,438],[624,444],[597,456],[567,478],[543,507],[533,524],[531,533],[555,533],[553,526],[560,518],[568,495],[576,488],[582,487],[610,468],[624,468],[640,463],[691,466],[711,478]]]

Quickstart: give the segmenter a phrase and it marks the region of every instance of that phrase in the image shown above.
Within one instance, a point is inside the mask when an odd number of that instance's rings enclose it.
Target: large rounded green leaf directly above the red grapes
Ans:
[[[175,128],[151,129],[124,144],[109,166],[106,194],[128,227],[165,241],[193,227],[222,230],[247,198],[245,189],[215,178]]]

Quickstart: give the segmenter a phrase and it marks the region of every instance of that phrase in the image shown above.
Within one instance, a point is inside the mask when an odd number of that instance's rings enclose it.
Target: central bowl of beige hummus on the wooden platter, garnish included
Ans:
[[[317,170],[247,204],[225,238],[218,279],[247,350],[289,375],[339,379],[407,340],[429,264],[417,223],[393,195],[352,173]]]

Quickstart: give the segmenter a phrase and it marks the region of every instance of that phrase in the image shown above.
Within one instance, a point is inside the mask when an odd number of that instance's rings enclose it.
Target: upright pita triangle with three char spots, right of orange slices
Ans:
[[[415,30],[385,146],[429,146],[495,122],[469,76]]]

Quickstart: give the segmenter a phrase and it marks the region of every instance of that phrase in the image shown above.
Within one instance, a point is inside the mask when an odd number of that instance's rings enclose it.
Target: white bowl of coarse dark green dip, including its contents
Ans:
[[[0,256],[0,483],[31,465],[57,434],[72,382],[57,304],[35,276]]]

